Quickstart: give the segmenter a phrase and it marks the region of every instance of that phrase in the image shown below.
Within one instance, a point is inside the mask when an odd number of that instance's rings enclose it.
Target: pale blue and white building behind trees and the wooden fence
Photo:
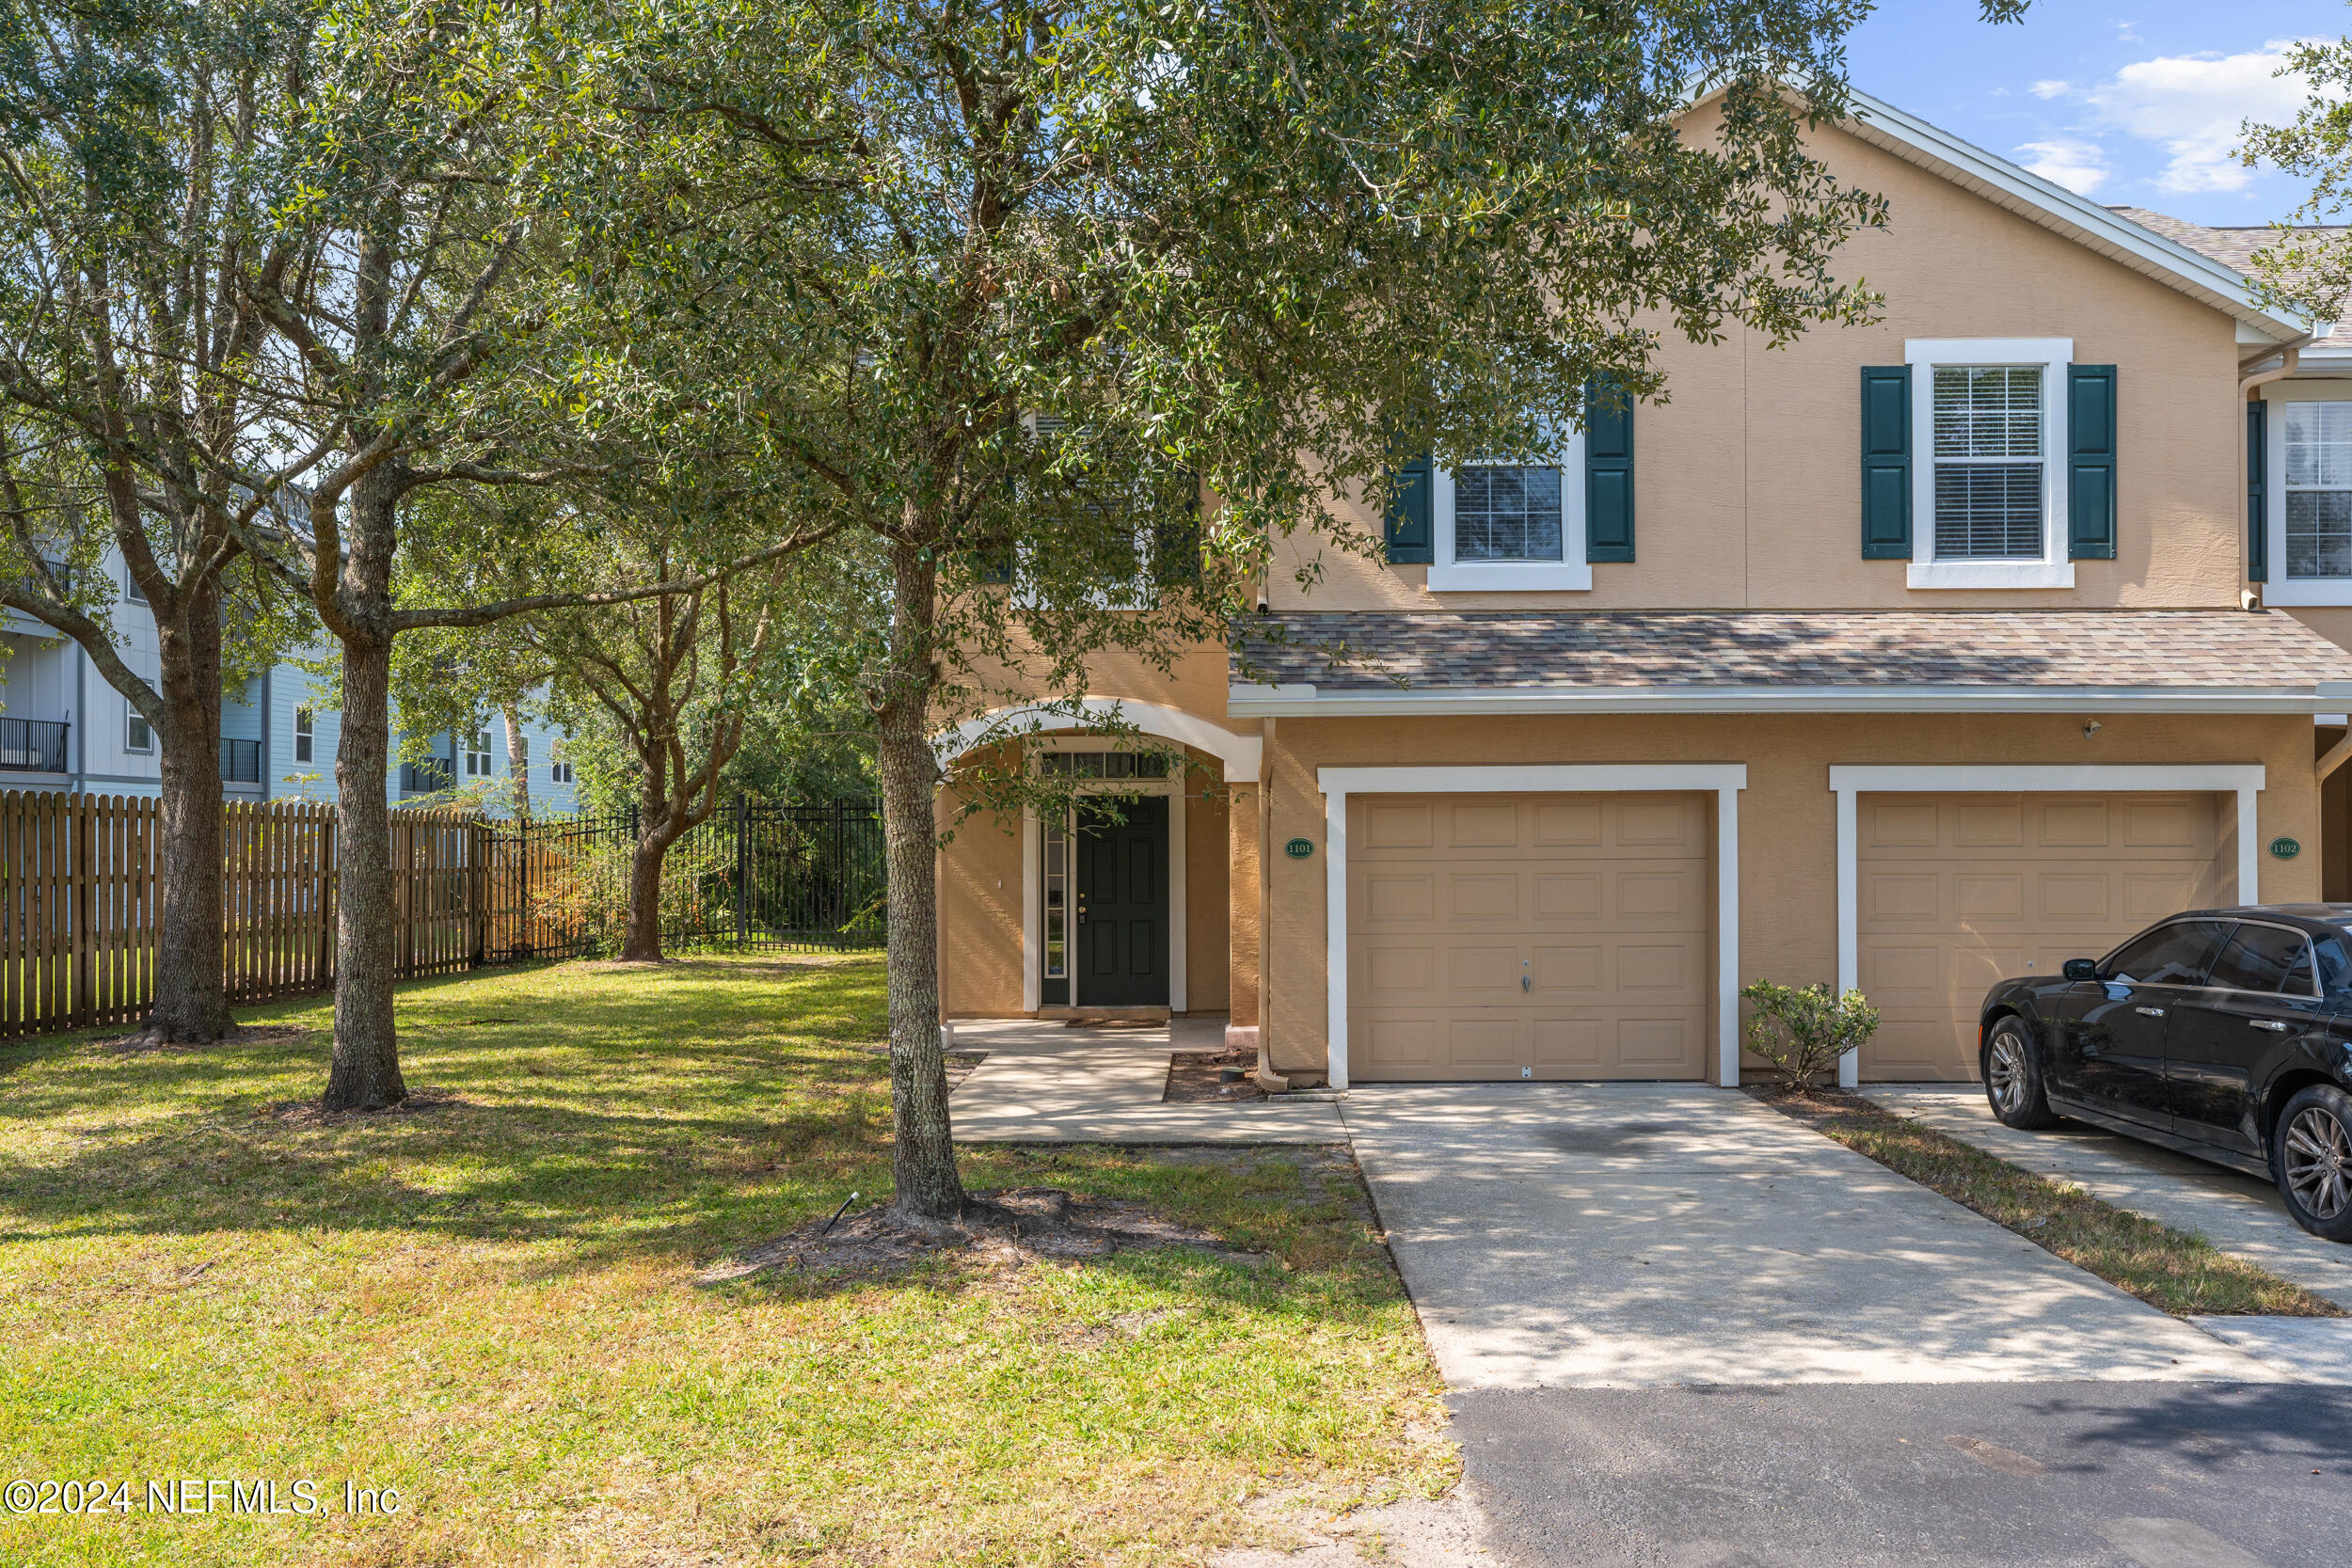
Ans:
[[[125,663],[155,679],[155,618],[122,557],[99,567],[115,585],[115,635]],[[0,639],[0,788],[155,795],[162,771],[146,719],[92,665],[71,637],[5,614]],[[313,656],[325,649],[313,649]],[[221,698],[221,795],[226,799],[334,799],[339,715],[318,701],[318,682],[294,661],[278,661]],[[576,809],[564,733],[541,719],[520,726],[534,811]],[[423,738],[426,759],[395,762],[386,778],[393,804],[447,795],[468,783],[510,778],[506,726]],[[485,792],[492,811],[503,795]]]

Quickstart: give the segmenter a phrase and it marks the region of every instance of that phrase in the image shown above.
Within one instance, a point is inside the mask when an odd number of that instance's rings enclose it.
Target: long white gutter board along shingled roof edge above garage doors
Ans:
[[[1225,691],[1237,719],[1446,712],[2340,712],[2347,682],[2317,686],[1359,686]],[[1254,776],[1254,773],[1251,773]]]

